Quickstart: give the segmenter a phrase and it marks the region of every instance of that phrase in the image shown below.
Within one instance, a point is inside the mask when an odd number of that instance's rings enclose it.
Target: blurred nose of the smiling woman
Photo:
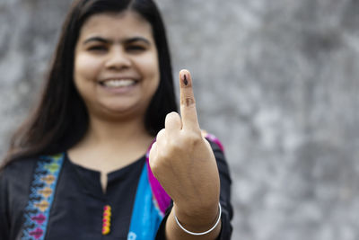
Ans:
[[[119,70],[130,66],[131,60],[123,49],[119,47],[110,49],[109,58],[106,61],[107,68]]]

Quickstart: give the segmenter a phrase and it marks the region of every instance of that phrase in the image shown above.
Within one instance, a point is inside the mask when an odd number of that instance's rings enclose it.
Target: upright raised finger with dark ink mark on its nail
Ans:
[[[183,129],[199,131],[192,77],[186,69],[180,70],[180,115]]]

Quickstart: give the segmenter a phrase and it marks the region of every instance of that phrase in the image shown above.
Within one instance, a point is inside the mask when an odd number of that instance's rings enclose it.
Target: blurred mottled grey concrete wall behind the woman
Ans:
[[[0,151],[70,0],[0,0]],[[359,239],[359,2],[159,0],[231,165],[233,239]]]

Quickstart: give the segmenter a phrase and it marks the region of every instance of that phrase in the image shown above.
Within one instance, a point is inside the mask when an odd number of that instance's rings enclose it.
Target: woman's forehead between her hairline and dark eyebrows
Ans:
[[[124,38],[143,36],[152,38],[152,27],[139,13],[98,13],[89,17],[80,31],[80,39],[92,36]]]

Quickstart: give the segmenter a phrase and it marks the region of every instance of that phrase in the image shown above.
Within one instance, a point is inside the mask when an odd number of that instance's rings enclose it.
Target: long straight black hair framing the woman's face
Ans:
[[[144,127],[155,136],[167,113],[177,111],[170,49],[161,14],[152,0],[77,0],[72,4],[57,43],[40,101],[11,138],[4,163],[66,151],[83,138],[89,116],[74,86],[74,49],[83,23],[93,14],[139,13],[149,22],[158,51],[160,84],[144,116]]]

